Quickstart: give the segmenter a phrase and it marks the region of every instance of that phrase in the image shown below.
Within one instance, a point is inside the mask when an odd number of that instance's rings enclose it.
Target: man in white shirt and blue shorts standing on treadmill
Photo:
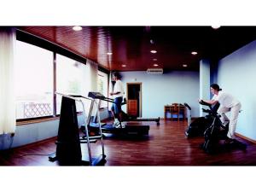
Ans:
[[[113,125],[116,128],[121,128],[121,103],[123,102],[123,96],[124,96],[124,86],[122,81],[120,80],[121,76],[119,73],[113,73],[113,80],[115,81],[115,84],[113,86],[113,92],[109,93],[110,96],[113,96],[114,103],[111,108],[111,112],[113,114]]]

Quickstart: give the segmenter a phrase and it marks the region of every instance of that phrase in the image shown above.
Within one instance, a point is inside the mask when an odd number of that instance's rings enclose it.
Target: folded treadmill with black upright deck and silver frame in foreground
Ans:
[[[101,129],[99,130],[98,136],[90,137],[88,127],[85,124],[85,134],[81,136],[78,125],[76,102],[82,104],[84,111],[84,122],[87,122],[83,99],[89,99],[91,102],[94,101],[84,96],[68,96],[61,93],[55,94],[62,96],[61,114],[57,141],[55,142],[56,152],[55,154],[51,154],[49,156],[49,160],[58,160],[61,166],[103,165],[106,162],[106,155],[104,154],[104,143],[102,140]],[[100,118],[98,111],[97,113],[98,117]],[[99,139],[101,140],[102,144],[102,154],[96,158],[93,158],[91,155],[90,143],[96,143],[96,141]],[[83,159],[83,155],[81,153],[81,143],[87,144],[87,153],[89,156],[89,160],[85,160],[85,158]]]

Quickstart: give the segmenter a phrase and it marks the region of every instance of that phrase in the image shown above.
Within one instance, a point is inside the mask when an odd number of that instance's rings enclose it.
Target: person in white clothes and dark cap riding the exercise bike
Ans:
[[[227,135],[228,139],[225,141],[225,143],[231,143],[235,138],[236,122],[238,119],[239,111],[241,109],[241,103],[236,100],[234,96],[231,96],[229,93],[219,89],[218,84],[211,84],[210,89],[213,94],[212,100],[203,101],[211,105],[219,102],[220,106],[218,108],[218,113],[221,114],[220,119],[222,123],[230,121],[229,132]],[[227,112],[230,112],[230,119],[228,119],[228,117],[225,115]]]

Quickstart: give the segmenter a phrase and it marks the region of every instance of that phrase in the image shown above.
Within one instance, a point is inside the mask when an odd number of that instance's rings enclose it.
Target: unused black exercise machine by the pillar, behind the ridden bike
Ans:
[[[184,106],[187,111],[187,117],[188,117],[188,128],[184,132],[185,136],[187,138],[191,137],[203,137],[204,132],[207,130],[207,127],[209,127],[212,124],[213,117],[212,115],[206,115],[205,117],[196,118],[193,121],[191,121],[191,108],[188,103],[184,103]],[[214,106],[209,106],[211,108],[213,113],[217,113],[217,110],[219,108],[219,103],[216,103]]]

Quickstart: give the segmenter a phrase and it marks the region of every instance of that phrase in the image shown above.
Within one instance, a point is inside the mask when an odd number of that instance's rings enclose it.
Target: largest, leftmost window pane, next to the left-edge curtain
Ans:
[[[53,53],[16,41],[16,119],[53,115]]]

